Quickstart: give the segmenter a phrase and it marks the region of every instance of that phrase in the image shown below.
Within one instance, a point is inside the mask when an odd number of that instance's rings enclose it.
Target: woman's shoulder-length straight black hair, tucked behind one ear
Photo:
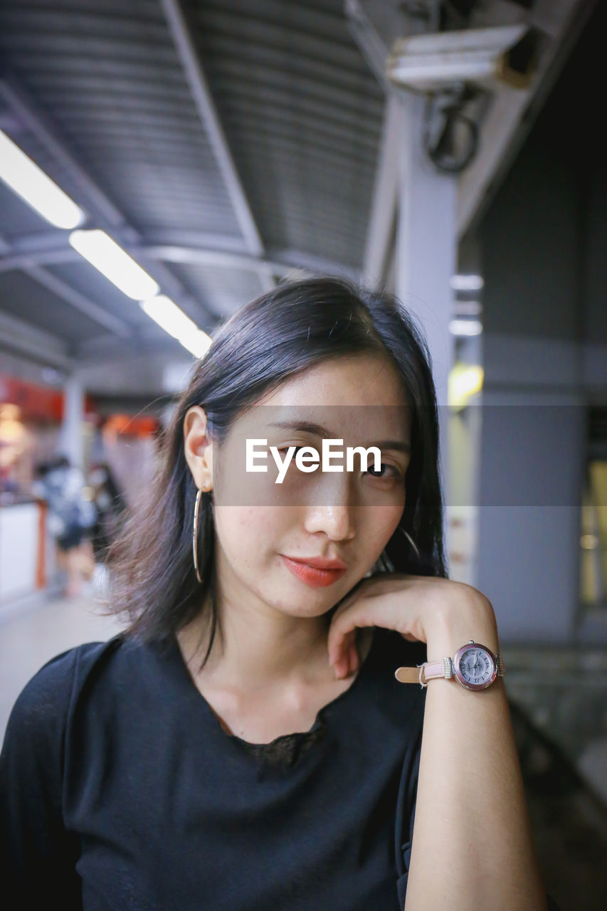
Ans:
[[[262,395],[314,364],[359,353],[381,354],[396,367],[411,415],[406,506],[386,544],[389,563],[384,561],[384,568],[447,577],[437,398],[421,328],[387,293],[370,292],[337,278],[289,281],[221,322],[161,436],[149,496],[129,517],[123,536],[112,548],[109,609],[127,616],[128,635],[169,640],[197,615],[210,593],[206,661],[219,623],[210,493],[201,495],[198,524],[201,583],[192,561],[197,488],[183,437],[190,407],[204,408],[215,454],[232,423]],[[414,539],[418,556],[403,531]]]

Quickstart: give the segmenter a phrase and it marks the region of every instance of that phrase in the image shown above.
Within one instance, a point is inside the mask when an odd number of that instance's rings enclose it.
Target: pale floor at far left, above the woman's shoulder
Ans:
[[[120,626],[90,597],[49,599],[0,618],[0,739],[15,699],[36,670],[82,642],[107,640]]]

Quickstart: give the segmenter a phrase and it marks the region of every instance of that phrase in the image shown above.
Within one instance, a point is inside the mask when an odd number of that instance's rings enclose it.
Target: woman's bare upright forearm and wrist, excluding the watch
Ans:
[[[437,611],[428,660],[468,640],[495,653],[491,604],[477,589]],[[405,911],[546,911],[503,680],[468,691],[428,682]]]

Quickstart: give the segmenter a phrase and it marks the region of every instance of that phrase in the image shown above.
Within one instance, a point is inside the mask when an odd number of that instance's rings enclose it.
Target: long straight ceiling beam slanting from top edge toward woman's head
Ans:
[[[247,200],[242,187],[240,175],[232,158],[228,140],[221,126],[221,120],[211,97],[211,91],[204,76],[201,61],[196,53],[196,48],[190,35],[190,28],[183,15],[180,2],[179,0],[160,0],[160,5],[167,19],[170,34],[180,58],[181,67],[183,67],[185,77],[190,86],[194,104],[209,139],[217,165],[221,170],[221,177],[230,196],[231,205],[242,230],[242,235],[249,251],[262,262],[262,238],[253,219],[249,200]],[[267,290],[273,288],[274,282],[271,273],[263,265],[261,265],[259,272]]]

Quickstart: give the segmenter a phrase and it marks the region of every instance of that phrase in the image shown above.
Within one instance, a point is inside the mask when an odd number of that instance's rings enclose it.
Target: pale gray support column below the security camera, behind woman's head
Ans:
[[[422,146],[424,99],[402,96],[396,215],[396,296],[426,334],[437,387],[441,476],[448,496],[448,376],[455,343],[449,332],[450,280],[456,269],[457,179],[441,174]]]

